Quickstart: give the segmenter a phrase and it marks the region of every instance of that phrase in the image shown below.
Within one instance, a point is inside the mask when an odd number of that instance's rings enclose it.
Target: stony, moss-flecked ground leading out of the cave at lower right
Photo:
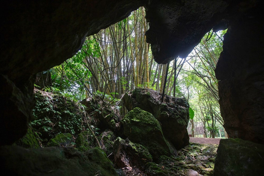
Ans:
[[[218,145],[190,143],[174,156],[161,156],[157,163],[146,164],[145,172],[137,167],[122,168],[126,175],[213,175]]]

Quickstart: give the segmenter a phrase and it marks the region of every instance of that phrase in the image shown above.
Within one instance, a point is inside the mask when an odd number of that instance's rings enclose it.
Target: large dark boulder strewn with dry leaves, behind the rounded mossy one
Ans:
[[[151,113],[160,123],[163,135],[181,149],[189,143],[187,125],[189,121],[189,103],[185,98],[165,95],[161,102],[161,93],[152,89],[135,89],[123,97],[128,111],[135,107]]]

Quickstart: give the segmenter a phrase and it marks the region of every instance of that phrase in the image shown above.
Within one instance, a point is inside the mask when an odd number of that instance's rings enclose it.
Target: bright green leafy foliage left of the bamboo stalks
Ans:
[[[49,70],[53,88],[59,89],[63,93],[77,95],[78,99],[85,98],[82,96],[84,84],[89,84],[87,79],[92,77],[92,73],[86,64],[86,57],[89,56],[101,56],[100,45],[96,39],[86,40],[82,49],[72,58]]]

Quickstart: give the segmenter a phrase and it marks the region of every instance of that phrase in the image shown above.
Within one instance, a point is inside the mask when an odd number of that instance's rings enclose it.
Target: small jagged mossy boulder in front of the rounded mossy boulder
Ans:
[[[120,137],[114,142],[114,154],[115,165],[118,168],[137,166],[144,170],[146,164],[152,162],[152,156],[147,148]]]

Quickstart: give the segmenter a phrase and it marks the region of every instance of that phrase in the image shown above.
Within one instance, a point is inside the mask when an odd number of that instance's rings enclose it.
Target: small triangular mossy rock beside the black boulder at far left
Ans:
[[[29,126],[27,133],[24,137],[15,142],[15,145],[19,145],[25,148],[37,149],[40,148],[37,136],[35,135],[32,127]]]

